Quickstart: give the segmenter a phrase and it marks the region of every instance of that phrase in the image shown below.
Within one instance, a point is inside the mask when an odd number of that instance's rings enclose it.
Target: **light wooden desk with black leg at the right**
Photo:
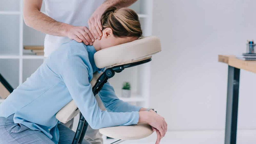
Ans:
[[[236,144],[240,69],[256,73],[256,61],[239,60],[234,55],[219,55],[219,62],[228,64],[225,144]]]

